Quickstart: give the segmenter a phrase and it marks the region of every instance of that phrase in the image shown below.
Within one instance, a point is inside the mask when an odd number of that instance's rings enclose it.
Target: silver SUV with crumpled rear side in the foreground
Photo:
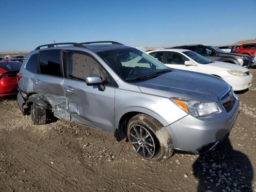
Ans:
[[[238,115],[238,96],[221,78],[167,68],[117,42],[38,46],[17,80],[18,105],[34,124],[54,114],[114,132],[143,158],[207,152]]]

